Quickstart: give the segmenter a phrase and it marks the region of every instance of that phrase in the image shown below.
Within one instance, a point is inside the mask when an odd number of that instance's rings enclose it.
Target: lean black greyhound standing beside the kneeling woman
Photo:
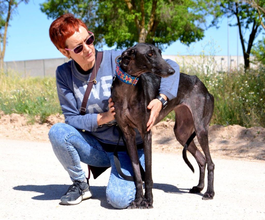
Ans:
[[[111,93],[116,112],[115,119],[124,135],[134,172],[136,194],[135,200],[131,202],[128,209],[153,208],[152,132],[147,131],[147,122],[150,117],[150,110],[147,109],[147,106],[158,95],[161,77],[174,74],[175,71],[162,58],[161,50],[151,44],[136,44],[123,51],[120,59],[119,66],[124,72],[131,76],[140,75],[135,86],[123,83],[118,79],[114,80]],[[188,150],[195,157],[200,169],[199,183],[189,191],[190,193],[201,192],[204,188],[207,163],[208,184],[202,197],[204,200],[214,197],[214,163],[208,145],[208,128],[213,109],[214,98],[198,77],[180,73],[177,97],[170,100],[165,109],[161,109],[155,122],[155,124],[160,122],[170,111],[175,111],[174,133],[176,139],[183,146],[188,139],[191,140],[188,147],[186,144],[183,149],[183,159],[194,172],[186,157],[186,150]],[[145,152],[144,195],[133,128],[139,130],[143,139]],[[196,132],[205,156],[190,138],[192,134],[195,134],[193,131]]]

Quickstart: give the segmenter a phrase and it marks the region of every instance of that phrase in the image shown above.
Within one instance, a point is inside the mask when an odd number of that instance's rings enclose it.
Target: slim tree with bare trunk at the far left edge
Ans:
[[[29,0],[1,0],[0,1],[0,70],[3,70],[4,56],[7,42],[7,28],[12,14],[21,2],[28,3]]]

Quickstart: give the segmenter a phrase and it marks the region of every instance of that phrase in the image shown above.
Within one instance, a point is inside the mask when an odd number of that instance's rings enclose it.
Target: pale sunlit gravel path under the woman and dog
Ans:
[[[181,154],[154,153],[154,208],[117,210],[106,201],[109,170],[90,180],[93,198],[62,206],[71,181],[50,143],[2,139],[0,150],[0,219],[265,219],[264,161],[213,157],[215,197],[204,201],[207,185],[188,193],[199,175],[191,156],[195,174]]]

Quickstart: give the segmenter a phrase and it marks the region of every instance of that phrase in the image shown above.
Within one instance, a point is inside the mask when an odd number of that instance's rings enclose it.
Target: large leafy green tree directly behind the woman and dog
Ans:
[[[41,11],[49,18],[70,12],[96,33],[97,45],[132,46],[148,42],[159,46],[181,40],[189,45],[204,37],[207,1],[202,0],[48,0]],[[206,27],[205,27],[206,28]]]

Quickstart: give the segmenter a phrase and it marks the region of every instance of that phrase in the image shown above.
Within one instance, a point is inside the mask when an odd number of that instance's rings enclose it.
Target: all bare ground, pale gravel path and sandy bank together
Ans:
[[[195,159],[188,154],[195,169],[193,174],[181,158],[183,147],[174,136],[174,122],[160,122],[152,128],[154,208],[118,210],[106,199],[110,169],[97,179],[90,179],[91,199],[70,207],[59,205],[72,182],[56,158],[47,134],[52,124],[64,121],[63,115],[53,115],[46,123],[33,125],[18,114],[0,112],[0,116],[3,152],[0,182],[8,180],[8,184],[1,186],[0,219],[70,220],[77,217],[76,213],[90,219],[135,219],[135,216],[147,220],[265,219],[265,129],[262,127],[210,127],[215,197],[202,200],[206,186],[201,193],[188,193],[198,183],[199,167]],[[198,146],[196,138],[195,143]],[[87,172],[87,166],[82,164],[82,167]],[[207,174],[205,183],[208,184]]]

